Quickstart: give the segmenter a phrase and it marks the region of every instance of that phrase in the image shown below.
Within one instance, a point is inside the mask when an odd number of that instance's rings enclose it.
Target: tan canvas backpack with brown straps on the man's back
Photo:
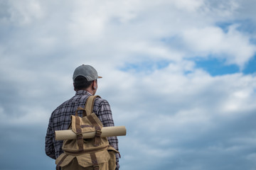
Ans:
[[[55,160],[56,169],[93,169],[114,170],[116,168],[116,156],[119,152],[110,146],[107,137],[101,137],[103,127],[99,118],[92,113],[95,98],[100,96],[89,96],[85,108],[79,107],[75,115],[71,115],[69,129],[77,135],[76,140],[63,141],[63,154]],[[78,115],[82,111],[83,116]],[[96,132],[91,139],[82,139],[82,133]],[[82,167],[81,167],[82,166]]]

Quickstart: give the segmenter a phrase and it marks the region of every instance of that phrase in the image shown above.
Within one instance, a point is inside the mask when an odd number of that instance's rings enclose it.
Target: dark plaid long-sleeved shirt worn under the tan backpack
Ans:
[[[46,154],[48,157],[56,159],[63,153],[61,149],[63,146],[63,141],[55,140],[54,132],[55,130],[67,130],[70,125],[70,115],[75,115],[75,111],[78,107],[85,107],[86,99],[92,96],[88,91],[77,91],[75,96],[70,98],[70,100],[65,101],[63,104],[58,106],[58,108],[53,111],[50,115],[49,125],[46,134]],[[114,126],[114,121],[112,118],[112,112],[110,109],[110,104],[102,98],[95,98],[95,103],[93,106],[93,113],[97,115],[104,127]],[[82,111],[78,111],[78,115],[82,116]],[[117,137],[108,137],[110,145],[114,149],[118,150],[118,140]],[[117,157],[117,163],[119,159]],[[119,164],[117,164],[119,167]]]

